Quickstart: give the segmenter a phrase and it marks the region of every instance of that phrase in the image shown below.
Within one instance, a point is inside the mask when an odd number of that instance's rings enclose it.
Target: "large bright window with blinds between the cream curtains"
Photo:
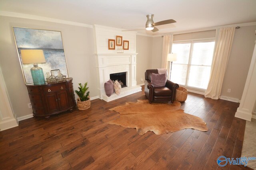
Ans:
[[[183,41],[172,44],[172,53],[177,61],[172,63],[170,79],[180,85],[206,89],[208,86],[214,39],[203,41]]]

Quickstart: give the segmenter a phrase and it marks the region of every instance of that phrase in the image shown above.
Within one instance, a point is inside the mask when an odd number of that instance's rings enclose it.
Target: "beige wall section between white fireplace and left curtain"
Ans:
[[[136,53],[137,55],[137,84],[143,84],[145,80],[145,71],[151,68],[152,60],[152,37],[142,35],[136,36]],[[143,79],[141,81],[141,78]]]

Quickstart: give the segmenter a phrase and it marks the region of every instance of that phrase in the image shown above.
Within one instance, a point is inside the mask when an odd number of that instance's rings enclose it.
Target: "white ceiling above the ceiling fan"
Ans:
[[[0,0],[0,11],[122,29],[144,29],[147,14],[177,21],[138,31],[150,35],[256,22],[256,0]]]

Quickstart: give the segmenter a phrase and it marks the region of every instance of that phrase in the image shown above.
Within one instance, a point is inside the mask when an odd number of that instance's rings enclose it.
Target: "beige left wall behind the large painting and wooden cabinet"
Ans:
[[[90,97],[98,95],[94,86],[97,80],[92,28],[6,16],[0,16],[0,23],[0,67],[17,117],[32,114],[32,109],[27,105],[30,99],[22,76],[12,26],[61,31],[74,89],[78,89],[78,83],[88,82]]]

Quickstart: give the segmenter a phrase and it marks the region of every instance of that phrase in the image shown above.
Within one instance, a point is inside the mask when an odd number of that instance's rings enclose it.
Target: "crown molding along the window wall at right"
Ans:
[[[176,32],[164,33],[164,34],[159,34],[159,35],[153,35],[153,37],[161,37],[163,35],[170,35],[170,34],[177,35],[177,34],[183,34],[183,33],[210,31],[210,30],[219,29],[219,28],[223,28],[223,27],[246,27],[246,26],[252,26],[252,25],[256,25],[256,22],[238,23],[238,24],[232,24],[232,25],[221,25],[221,26],[216,26],[216,27],[206,27],[206,28],[199,28],[199,29],[190,29],[190,30],[185,30],[185,31],[176,31]]]

